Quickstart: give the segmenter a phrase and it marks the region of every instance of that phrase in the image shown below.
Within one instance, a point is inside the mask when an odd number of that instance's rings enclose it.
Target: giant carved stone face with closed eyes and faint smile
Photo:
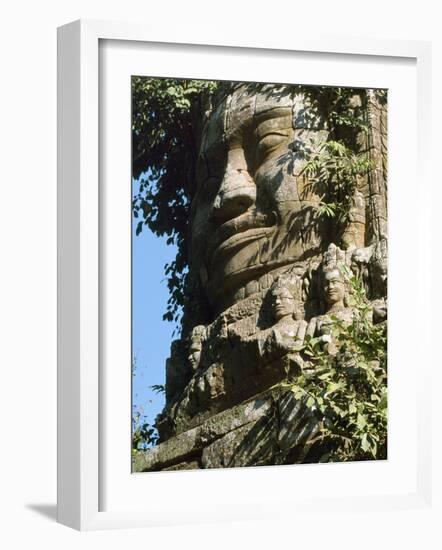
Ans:
[[[191,268],[214,312],[269,271],[319,252],[319,197],[300,175],[302,149],[327,132],[290,88],[237,88],[210,115],[192,203]],[[244,296],[242,296],[244,297]]]

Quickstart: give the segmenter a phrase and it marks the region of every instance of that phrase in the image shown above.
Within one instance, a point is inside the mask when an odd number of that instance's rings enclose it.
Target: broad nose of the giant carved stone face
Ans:
[[[225,222],[248,210],[256,201],[256,186],[247,170],[227,166],[213,203],[213,218]]]

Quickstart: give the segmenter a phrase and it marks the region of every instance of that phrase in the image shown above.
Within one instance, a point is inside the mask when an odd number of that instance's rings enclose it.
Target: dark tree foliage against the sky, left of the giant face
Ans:
[[[187,231],[194,182],[196,136],[192,106],[211,94],[211,81],[133,77],[132,175],[140,179],[133,197],[136,234],[146,225],[177,246],[165,266],[169,300],[164,319],[177,322],[187,296]]]

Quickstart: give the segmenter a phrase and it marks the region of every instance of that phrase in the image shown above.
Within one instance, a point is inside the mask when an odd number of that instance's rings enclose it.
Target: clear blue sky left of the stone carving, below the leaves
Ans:
[[[138,191],[134,181],[132,190]],[[164,406],[164,394],[149,386],[164,384],[165,363],[175,324],[163,321],[169,297],[164,265],[175,258],[176,247],[166,245],[147,226],[136,236],[132,223],[132,352],[136,368],[132,381],[132,404],[142,409],[150,424]]]

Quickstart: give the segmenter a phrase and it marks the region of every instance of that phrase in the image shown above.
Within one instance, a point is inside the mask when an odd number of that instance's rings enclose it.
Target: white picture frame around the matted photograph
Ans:
[[[202,33],[203,34],[203,33]],[[431,204],[429,174],[429,121],[431,103],[429,81],[431,66],[431,44],[427,42],[364,40],[341,36],[328,38],[281,37],[271,44],[256,38],[210,39],[201,35],[195,41],[182,34],[168,36],[163,31],[147,31],[137,24],[101,21],[77,21],[61,27],[58,31],[58,521],[80,530],[116,527],[140,527],[178,522],[211,521],[214,512],[207,514],[175,513],[165,514],[165,506],[125,507],[103,511],[100,483],[103,483],[103,449],[100,405],[103,388],[100,386],[102,364],[100,358],[100,334],[102,318],[100,302],[103,276],[101,235],[99,223],[101,203],[99,186],[99,47],[100,41],[127,41],[128,43],[165,43],[200,45],[200,47],[229,47],[244,51],[244,48],[271,51],[298,51],[335,56],[378,56],[380,58],[411,58],[417,71],[417,157],[419,179],[424,204]],[[423,315],[431,315],[431,231],[430,212],[421,209],[419,231],[422,242],[427,246],[420,251],[418,277],[422,287],[419,308]],[[431,338],[431,331],[422,336],[419,346],[424,348]],[[416,488],[408,494],[360,495],[336,498],[334,506],[342,513],[355,504],[366,510],[425,508],[431,502],[431,451],[430,402],[426,398],[425,384],[428,384],[430,359],[420,365],[420,378],[416,380]],[[100,397],[101,396],[101,397]],[[128,458],[129,459],[129,458]],[[339,467],[339,465],[337,465]],[[351,467],[351,465],[350,465]],[[248,473],[254,470],[255,473]],[[252,479],[257,469],[230,472],[238,481],[239,476]],[[280,470],[279,470],[280,471]],[[195,484],[197,473],[171,472],[166,474],[168,485],[181,486],[181,480]],[[164,474],[162,474],[164,475]],[[213,472],[211,482],[223,483],[225,472]],[[280,474],[279,474],[280,475]],[[330,470],[327,474],[336,475]],[[172,477],[171,477],[172,476]],[[187,477],[186,477],[187,476]],[[281,477],[281,475],[280,475]],[[166,479],[166,478],[164,478]],[[156,475],[155,486],[162,480]],[[168,489],[173,490],[173,489]],[[272,499],[278,496],[272,495]],[[324,513],[332,500],[319,495],[302,501],[280,493],[284,503],[278,517],[284,510],[294,508],[306,513]],[[232,496],[233,500],[233,496]],[[241,500],[241,499],[239,499]],[[244,508],[244,507],[243,507]],[[322,511],[322,512],[321,512]],[[272,516],[263,510],[263,501],[250,497],[247,509],[225,502],[216,510],[217,520],[259,519]]]

